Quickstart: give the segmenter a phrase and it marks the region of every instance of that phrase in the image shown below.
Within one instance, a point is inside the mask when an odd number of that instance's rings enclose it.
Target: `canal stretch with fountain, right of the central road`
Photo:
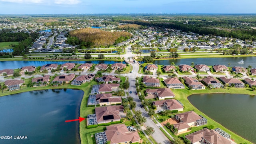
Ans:
[[[241,60],[244,60],[244,64],[238,64]],[[251,65],[253,68],[256,67],[256,57],[234,57],[234,58],[186,58],[186,59],[178,59],[178,60],[156,60],[154,64],[163,64],[170,65],[172,62],[175,65],[179,64],[188,64],[191,65],[191,62],[194,64],[206,64],[208,66],[214,66],[215,64],[224,64],[228,66],[243,66],[244,68]]]

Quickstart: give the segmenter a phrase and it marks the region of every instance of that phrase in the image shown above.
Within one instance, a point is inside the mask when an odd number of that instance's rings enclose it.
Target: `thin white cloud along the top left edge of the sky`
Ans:
[[[80,0],[0,0],[0,2],[20,3],[20,4],[79,4]]]

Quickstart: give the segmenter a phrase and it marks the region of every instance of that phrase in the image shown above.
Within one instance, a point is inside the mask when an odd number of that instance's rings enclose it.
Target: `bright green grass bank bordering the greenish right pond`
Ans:
[[[251,88],[230,88],[228,89],[206,89],[206,90],[189,90],[188,87],[186,86],[185,89],[175,89],[172,90],[176,96],[177,100],[180,100],[180,102],[182,102],[182,104],[184,104],[184,111],[182,112],[186,112],[186,111],[190,111],[190,110],[194,110],[194,112],[196,112],[199,115],[204,116],[207,120],[208,120],[208,124],[207,125],[213,125],[214,128],[221,128],[222,130],[224,130],[225,132],[227,132],[228,134],[231,135],[231,138],[234,139],[234,141],[236,143],[248,143],[250,144],[251,142],[249,142],[248,140],[245,140],[244,138],[238,136],[237,134],[235,134],[234,132],[228,130],[227,128],[225,128],[224,126],[222,126],[221,124],[219,124],[218,122],[212,120],[210,117],[206,116],[205,114],[203,114],[202,112],[200,112],[196,107],[194,107],[189,101],[188,101],[188,96],[192,95],[192,94],[210,94],[210,93],[230,93],[230,94],[248,94],[248,95],[255,95],[255,92],[253,92],[251,90]],[[181,113],[181,112],[178,112]],[[154,116],[157,118],[157,120],[159,122],[161,122],[162,118],[170,118],[168,116],[161,116],[160,114],[154,114]],[[185,134],[180,134],[180,136],[182,135],[187,135],[190,134],[192,132],[195,132],[197,130],[202,129],[203,127],[207,126],[199,126],[199,127],[193,127],[192,130],[188,133]],[[174,134],[172,134],[172,132],[170,132],[170,130],[166,127],[164,127],[172,136],[175,136]]]

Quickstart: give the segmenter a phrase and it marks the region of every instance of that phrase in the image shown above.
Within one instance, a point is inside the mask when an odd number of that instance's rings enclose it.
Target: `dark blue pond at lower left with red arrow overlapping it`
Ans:
[[[80,144],[77,119],[82,90],[56,89],[0,97],[0,135],[27,135],[1,144]]]

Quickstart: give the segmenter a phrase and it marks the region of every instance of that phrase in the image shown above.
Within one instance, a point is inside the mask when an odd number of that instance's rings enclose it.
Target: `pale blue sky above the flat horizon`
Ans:
[[[0,0],[0,14],[256,13],[256,0]]]

